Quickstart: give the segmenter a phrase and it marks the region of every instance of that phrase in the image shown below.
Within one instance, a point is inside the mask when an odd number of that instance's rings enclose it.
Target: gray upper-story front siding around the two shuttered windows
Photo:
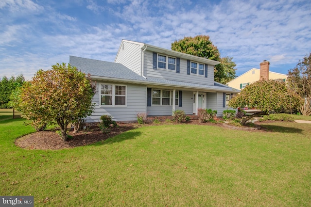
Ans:
[[[159,53],[160,54],[160,53]],[[187,81],[191,83],[214,85],[214,66],[208,65],[207,78],[200,75],[187,75],[187,60],[180,59],[180,73],[176,70],[153,69],[153,53],[146,50],[144,52],[144,76],[164,78],[167,80]],[[199,63],[199,62],[198,62]]]

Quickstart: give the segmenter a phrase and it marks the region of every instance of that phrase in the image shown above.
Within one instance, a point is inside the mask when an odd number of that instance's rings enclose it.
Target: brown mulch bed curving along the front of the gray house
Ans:
[[[173,123],[172,123],[173,124]],[[195,125],[210,125],[210,126],[220,126],[231,129],[244,129],[244,130],[258,130],[260,127],[250,128],[250,127],[235,127],[227,125],[224,123],[199,123],[198,120],[191,120],[187,124]],[[149,124],[154,125],[154,124]],[[77,146],[85,146],[91,143],[96,143],[99,141],[106,140],[110,137],[114,137],[122,132],[138,128],[138,124],[119,124],[118,127],[113,128],[109,134],[103,134],[98,127],[87,128],[84,131],[78,133],[73,133],[69,131],[68,134],[72,136],[71,139],[64,142],[61,137],[53,130],[39,131],[31,133],[16,139],[15,144],[21,148],[26,149],[65,149],[65,148],[74,148]]]

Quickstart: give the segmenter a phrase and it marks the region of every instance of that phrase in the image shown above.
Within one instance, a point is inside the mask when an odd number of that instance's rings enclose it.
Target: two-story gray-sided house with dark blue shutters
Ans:
[[[96,82],[95,111],[86,122],[110,115],[120,122],[137,121],[137,113],[170,116],[175,110],[197,114],[217,110],[240,91],[214,81],[220,62],[144,43],[122,40],[115,63],[70,56],[69,63]]]

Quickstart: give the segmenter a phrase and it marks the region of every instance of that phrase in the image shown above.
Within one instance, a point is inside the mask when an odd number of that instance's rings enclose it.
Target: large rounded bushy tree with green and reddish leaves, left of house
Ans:
[[[13,102],[37,130],[57,124],[66,141],[69,123],[93,112],[91,100],[95,90],[90,78],[76,67],[57,63],[51,70],[37,71],[31,81],[16,90]]]

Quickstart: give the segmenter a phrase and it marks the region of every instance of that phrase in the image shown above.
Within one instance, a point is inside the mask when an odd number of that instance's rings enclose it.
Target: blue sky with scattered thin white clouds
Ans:
[[[113,62],[122,39],[171,48],[209,35],[237,75],[268,60],[287,74],[311,52],[310,0],[1,0],[0,78],[68,63]]]

